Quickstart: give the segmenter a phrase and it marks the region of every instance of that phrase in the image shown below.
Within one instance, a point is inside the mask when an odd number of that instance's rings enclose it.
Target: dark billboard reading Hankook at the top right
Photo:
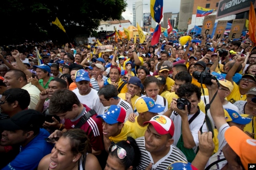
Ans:
[[[248,11],[250,2],[256,8],[255,0],[220,0],[216,19]]]

